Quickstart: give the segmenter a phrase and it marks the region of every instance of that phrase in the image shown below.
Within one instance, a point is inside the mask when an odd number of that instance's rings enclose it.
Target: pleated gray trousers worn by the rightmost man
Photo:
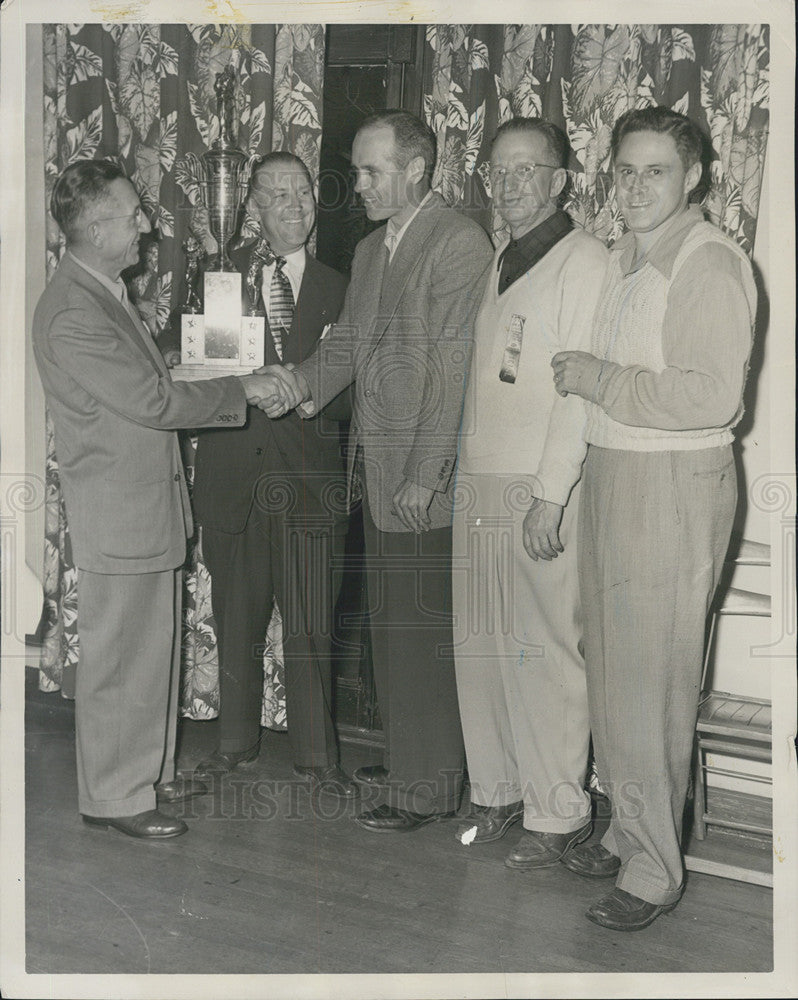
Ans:
[[[617,885],[675,902],[706,618],[737,503],[730,446],[588,449],[579,531],[590,723]]]

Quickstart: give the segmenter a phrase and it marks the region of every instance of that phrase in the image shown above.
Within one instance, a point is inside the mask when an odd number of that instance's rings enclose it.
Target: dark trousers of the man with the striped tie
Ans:
[[[293,761],[336,763],[331,648],[344,536],[255,507],[240,534],[203,528],[202,548],[219,648],[219,749],[246,750],[260,738],[263,644],[276,600]]]

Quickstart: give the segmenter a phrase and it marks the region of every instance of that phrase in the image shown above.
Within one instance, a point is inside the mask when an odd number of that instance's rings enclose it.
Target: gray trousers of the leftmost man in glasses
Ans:
[[[180,570],[111,576],[78,570],[75,687],[78,808],[133,816],[175,775]]]

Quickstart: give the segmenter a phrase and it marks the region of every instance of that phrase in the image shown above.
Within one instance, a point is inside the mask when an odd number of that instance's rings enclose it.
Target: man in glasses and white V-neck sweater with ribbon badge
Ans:
[[[589,729],[576,564],[586,446],[579,400],[550,363],[590,344],[602,243],[558,208],[568,143],[541,119],[502,125],[491,193],[499,246],[476,320],[455,499],[455,665],[471,812],[457,839],[498,840],[505,864],[555,865],[590,834]],[[525,551],[526,550],[526,551]]]

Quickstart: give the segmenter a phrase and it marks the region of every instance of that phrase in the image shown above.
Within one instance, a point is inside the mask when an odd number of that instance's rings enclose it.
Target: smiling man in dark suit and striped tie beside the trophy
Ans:
[[[266,156],[253,174],[250,209],[262,239],[232,260],[266,315],[266,364],[299,364],[338,316],[346,290],[346,279],[305,249],[316,213],[305,164],[291,153]],[[332,614],[347,529],[338,434],[346,402],[310,421],[296,413],[272,421],[252,410],[240,430],[200,435],[194,509],[212,578],[221,703],[219,746],[198,765],[200,776],[258,756],[263,641],[276,600],[294,771],[327,793],[357,794],[338,764],[331,704]]]

